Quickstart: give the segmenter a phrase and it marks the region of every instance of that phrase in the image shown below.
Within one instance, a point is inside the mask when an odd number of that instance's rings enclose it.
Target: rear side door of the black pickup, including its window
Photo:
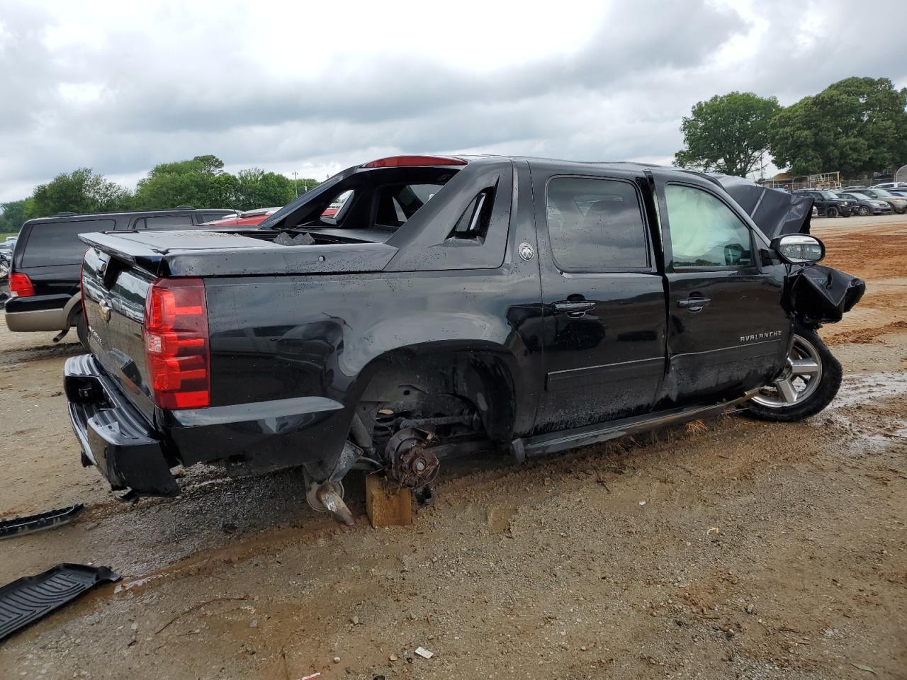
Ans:
[[[537,432],[654,403],[665,371],[665,292],[642,180],[631,171],[533,169],[544,327]]]

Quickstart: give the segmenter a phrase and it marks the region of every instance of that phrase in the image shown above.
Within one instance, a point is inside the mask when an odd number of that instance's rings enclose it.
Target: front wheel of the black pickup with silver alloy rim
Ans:
[[[785,371],[753,397],[746,414],[775,423],[809,418],[832,403],[843,373],[814,329],[797,325]],[[802,389],[797,389],[799,385]]]

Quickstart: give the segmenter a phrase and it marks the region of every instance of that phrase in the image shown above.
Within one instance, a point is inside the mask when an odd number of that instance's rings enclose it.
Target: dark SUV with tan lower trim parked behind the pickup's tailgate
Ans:
[[[29,219],[13,251],[6,301],[6,325],[11,331],[59,331],[73,325],[84,342],[79,271],[85,244],[79,234],[127,229],[187,229],[233,214],[228,209],[172,209],[111,212],[93,215],[60,213]]]

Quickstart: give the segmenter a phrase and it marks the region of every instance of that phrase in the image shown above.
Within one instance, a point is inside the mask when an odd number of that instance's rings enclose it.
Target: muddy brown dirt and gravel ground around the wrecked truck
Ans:
[[[79,346],[0,327],[0,517],[87,506],[0,543],[0,584],[123,577],[0,643],[0,678],[907,678],[907,219],[814,233],[868,284],[822,331],[824,413],[448,465],[405,528],[369,526],[361,479],[355,527],[317,515],[294,471],[121,503],[70,430]]]

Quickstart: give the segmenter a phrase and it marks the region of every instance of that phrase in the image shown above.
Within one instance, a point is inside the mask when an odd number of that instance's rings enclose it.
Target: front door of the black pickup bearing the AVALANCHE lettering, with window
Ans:
[[[715,402],[770,382],[793,325],[784,267],[762,266],[739,206],[706,181],[655,173],[668,279],[665,406]]]

